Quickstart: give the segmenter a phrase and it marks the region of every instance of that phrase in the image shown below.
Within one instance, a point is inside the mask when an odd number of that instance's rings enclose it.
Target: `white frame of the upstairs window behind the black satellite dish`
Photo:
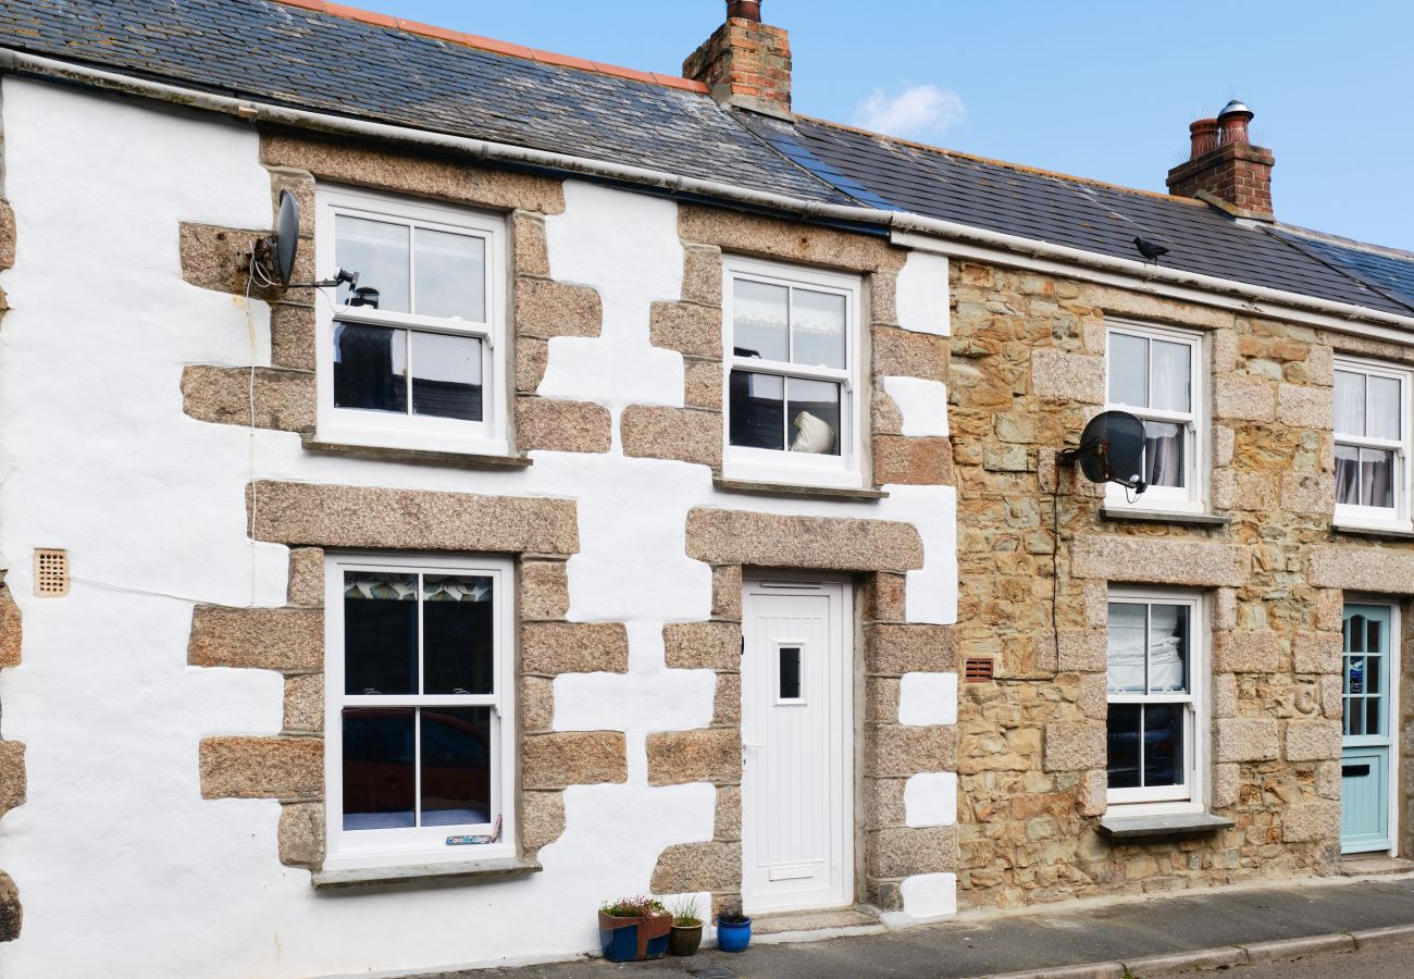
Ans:
[[[1189,396],[1191,409],[1188,412],[1171,412],[1150,407],[1135,407],[1110,400],[1110,369],[1113,358],[1110,355],[1110,340],[1114,334],[1140,337],[1154,341],[1185,344],[1189,347]],[[1184,488],[1148,487],[1143,494],[1130,499],[1124,487],[1113,482],[1104,488],[1104,505],[1113,508],[1152,511],[1164,514],[1206,514],[1208,512],[1208,473],[1209,473],[1209,417],[1208,417],[1208,344],[1203,334],[1193,330],[1179,330],[1176,327],[1162,327],[1148,323],[1134,323],[1130,320],[1107,320],[1104,324],[1104,410],[1128,412],[1141,422],[1169,422],[1182,424],[1185,431],[1185,467]]]

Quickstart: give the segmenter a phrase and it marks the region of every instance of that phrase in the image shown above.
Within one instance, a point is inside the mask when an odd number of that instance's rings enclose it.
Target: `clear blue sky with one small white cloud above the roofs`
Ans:
[[[351,0],[536,48],[679,74],[723,0]],[[1229,98],[1277,156],[1277,216],[1414,249],[1407,0],[765,0],[797,112],[1162,191]]]

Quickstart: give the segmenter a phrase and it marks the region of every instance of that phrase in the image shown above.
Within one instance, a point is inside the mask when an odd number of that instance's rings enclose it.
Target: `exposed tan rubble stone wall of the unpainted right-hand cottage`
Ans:
[[[1332,357],[1367,344],[1003,267],[957,263],[952,279],[957,656],[995,665],[960,693],[960,904],[1333,873],[1343,593],[1414,590],[1414,545],[1332,529]],[[1056,470],[1103,407],[1116,317],[1203,334],[1220,521],[1123,519],[1100,487]],[[1116,843],[1099,826],[1106,606],[1123,584],[1205,597],[1205,796],[1232,829]]]

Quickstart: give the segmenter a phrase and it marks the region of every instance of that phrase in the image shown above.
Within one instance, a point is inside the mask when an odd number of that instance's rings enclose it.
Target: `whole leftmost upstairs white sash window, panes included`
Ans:
[[[505,222],[320,188],[315,297],[321,441],[505,454]]]

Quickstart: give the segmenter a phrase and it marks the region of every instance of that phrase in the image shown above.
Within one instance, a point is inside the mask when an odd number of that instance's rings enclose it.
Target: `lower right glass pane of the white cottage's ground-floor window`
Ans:
[[[423,826],[491,822],[491,707],[421,714]]]

